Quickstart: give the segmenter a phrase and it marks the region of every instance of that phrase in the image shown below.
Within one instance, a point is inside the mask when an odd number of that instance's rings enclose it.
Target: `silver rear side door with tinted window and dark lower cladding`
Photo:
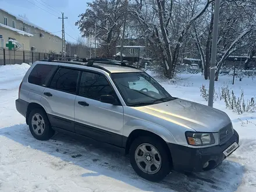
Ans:
[[[47,108],[52,126],[74,132],[74,100],[79,75],[79,70],[61,66],[45,88],[41,102]]]

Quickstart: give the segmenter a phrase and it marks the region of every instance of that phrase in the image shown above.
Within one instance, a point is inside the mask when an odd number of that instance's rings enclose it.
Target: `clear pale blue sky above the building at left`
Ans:
[[[79,15],[87,9],[87,2],[92,0],[0,0],[0,7],[14,15],[26,15],[31,23],[40,26],[61,37],[62,20],[61,12],[65,19],[65,39],[76,42],[80,31],[74,25],[79,20]],[[58,32],[56,32],[58,31]],[[56,33],[55,33],[56,32]]]

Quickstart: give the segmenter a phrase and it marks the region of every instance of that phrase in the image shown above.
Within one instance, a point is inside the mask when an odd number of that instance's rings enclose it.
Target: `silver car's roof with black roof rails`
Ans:
[[[80,69],[90,69],[94,71],[103,70],[107,73],[130,73],[130,72],[142,72],[140,69],[132,66],[118,65],[111,63],[99,63],[97,61],[93,62],[93,65],[87,66],[84,62],[69,62],[69,61],[36,61],[35,63],[48,64],[48,65],[61,65],[68,67],[77,67]]]

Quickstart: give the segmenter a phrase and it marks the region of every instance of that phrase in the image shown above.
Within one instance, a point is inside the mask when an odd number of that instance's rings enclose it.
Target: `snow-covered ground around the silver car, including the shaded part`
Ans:
[[[15,108],[29,67],[0,66],[0,191],[256,191],[256,113],[237,115],[223,101],[215,101],[214,107],[230,116],[240,134],[240,148],[209,172],[173,172],[161,183],[151,183],[138,177],[119,152],[64,134],[35,140]],[[207,105],[200,87],[209,82],[201,74],[182,74],[175,83],[159,81],[173,96]],[[256,79],[236,80],[234,86],[231,81],[232,77],[219,77],[216,91],[229,83],[237,95],[243,89],[245,99],[255,97]]]

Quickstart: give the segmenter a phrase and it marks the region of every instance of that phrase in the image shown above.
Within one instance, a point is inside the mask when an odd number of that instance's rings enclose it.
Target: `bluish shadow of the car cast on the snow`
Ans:
[[[153,183],[139,177],[131,168],[129,157],[123,155],[122,152],[109,150],[102,144],[91,140],[57,133],[51,140],[38,141],[31,135],[26,124],[4,127],[0,129],[0,136],[92,171],[81,174],[81,177],[104,175],[140,190],[236,191],[244,172],[242,165],[226,160],[218,168],[208,172],[172,172],[162,182]],[[66,163],[63,165],[65,166]]]

